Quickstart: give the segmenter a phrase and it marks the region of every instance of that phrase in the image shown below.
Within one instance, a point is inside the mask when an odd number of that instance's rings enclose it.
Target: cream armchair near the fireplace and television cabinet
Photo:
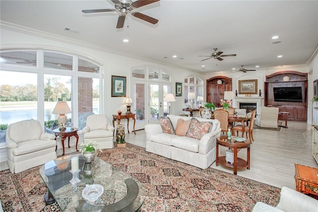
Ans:
[[[255,118],[255,124],[259,127],[278,127],[278,107],[261,107],[260,114]]]

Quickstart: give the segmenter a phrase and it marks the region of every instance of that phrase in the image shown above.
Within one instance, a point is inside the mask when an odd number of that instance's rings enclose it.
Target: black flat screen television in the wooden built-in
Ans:
[[[303,102],[302,87],[273,88],[275,102]]]

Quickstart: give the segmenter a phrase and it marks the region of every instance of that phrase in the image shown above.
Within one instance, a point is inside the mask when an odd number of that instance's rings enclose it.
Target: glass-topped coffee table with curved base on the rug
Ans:
[[[70,183],[72,157],[79,157],[80,170],[80,182],[74,186]],[[136,212],[147,194],[138,180],[97,156],[92,163],[85,163],[81,155],[63,156],[44,164],[40,175],[49,189],[45,203],[49,205],[56,201],[66,212]],[[104,192],[96,201],[88,202],[82,197],[82,191],[85,186],[93,184],[101,185]]]

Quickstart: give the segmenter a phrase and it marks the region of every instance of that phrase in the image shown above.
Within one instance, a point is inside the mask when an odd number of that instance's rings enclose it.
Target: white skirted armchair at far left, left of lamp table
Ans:
[[[56,159],[55,138],[55,135],[43,133],[36,120],[10,124],[5,134],[10,171],[19,173]]]

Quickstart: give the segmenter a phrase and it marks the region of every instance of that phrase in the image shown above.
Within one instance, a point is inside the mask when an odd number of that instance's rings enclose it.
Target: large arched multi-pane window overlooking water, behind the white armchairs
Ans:
[[[0,124],[25,119],[50,127],[58,101],[66,101],[66,114],[82,129],[89,114],[100,113],[100,66],[77,55],[50,50],[0,52]]]

